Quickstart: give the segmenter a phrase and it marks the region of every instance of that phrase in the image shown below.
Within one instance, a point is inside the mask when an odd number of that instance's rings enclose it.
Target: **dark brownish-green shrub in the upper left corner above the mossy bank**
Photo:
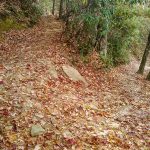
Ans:
[[[15,18],[30,26],[38,22],[42,11],[35,0],[4,0],[0,4],[0,20]],[[2,7],[2,8],[1,8]]]

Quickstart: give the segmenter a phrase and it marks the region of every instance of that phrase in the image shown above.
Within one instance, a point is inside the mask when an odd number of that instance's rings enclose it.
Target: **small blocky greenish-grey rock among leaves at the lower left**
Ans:
[[[38,136],[44,133],[45,130],[41,127],[41,125],[33,125],[31,127],[31,136]]]

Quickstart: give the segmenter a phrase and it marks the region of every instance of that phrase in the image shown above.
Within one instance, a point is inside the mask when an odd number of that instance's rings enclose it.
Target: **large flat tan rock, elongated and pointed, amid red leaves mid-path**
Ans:
[[[81,76],[81,74],[74,69],[73,67],[69,66],[69,65],[64,65],[62,66],[63,71],[65,72],[65,74],[73,81],[82,81],[85,83],[85,85],[88,85],[86,80],[84,79],[83,76]]]

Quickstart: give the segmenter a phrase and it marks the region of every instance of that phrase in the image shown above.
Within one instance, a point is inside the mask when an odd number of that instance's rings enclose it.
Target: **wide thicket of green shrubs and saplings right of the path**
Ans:
[[[150,29],[150,8],[135,3],[94,1],[90,8],[74,1],[67,24],[68,38],[76,43],[82,56],[96,49],[107,65],[128,63],[130,54],[139,55],[145,47]],[[107,55],[103,55],[105,47]]]

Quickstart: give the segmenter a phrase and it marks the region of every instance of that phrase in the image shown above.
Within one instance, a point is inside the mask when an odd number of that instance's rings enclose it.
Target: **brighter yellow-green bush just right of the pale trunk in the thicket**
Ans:
[[[112,23],[108,36],[109,58],[112,64],[118,65],[129,62],[129,48],[139,38],[139,22],[134,15],[134,9],[129,5],[119,4],[112,16]]]

